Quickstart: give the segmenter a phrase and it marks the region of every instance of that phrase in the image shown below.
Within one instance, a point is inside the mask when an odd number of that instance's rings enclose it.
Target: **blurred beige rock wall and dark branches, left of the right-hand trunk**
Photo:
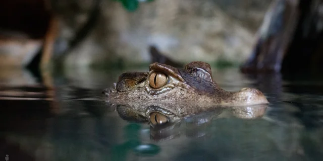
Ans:
[[[66,66],[150,63],[148,47],[154,45],[179,62],[238,65],[250,55],[270,4],[268,0],[4,1],[0,63],[27,66],[46,52],[51,53],[50,61]]]

